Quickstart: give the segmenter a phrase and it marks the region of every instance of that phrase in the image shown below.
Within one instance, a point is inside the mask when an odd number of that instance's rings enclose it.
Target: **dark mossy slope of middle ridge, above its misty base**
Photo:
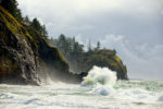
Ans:
[[[30,36],[33,36],[35,44],[38,47],[39,58],[49,66],[53,65],[59,71],[68,71],[68,64],[61,55],[61,52],[54,48],[49,40],[36,31],[33,26],[24,25]]]

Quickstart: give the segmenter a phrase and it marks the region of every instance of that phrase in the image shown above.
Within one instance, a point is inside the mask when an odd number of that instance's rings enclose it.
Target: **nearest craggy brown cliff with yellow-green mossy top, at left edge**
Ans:
[[[37,59],[29,34],[0,7],[0,82],[38,84]]]

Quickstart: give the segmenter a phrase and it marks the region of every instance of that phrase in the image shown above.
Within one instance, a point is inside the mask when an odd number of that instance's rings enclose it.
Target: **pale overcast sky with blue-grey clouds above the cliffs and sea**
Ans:
[[[163,81],[163,0],[18,0],[50,37],[116,49],[131,78]]]

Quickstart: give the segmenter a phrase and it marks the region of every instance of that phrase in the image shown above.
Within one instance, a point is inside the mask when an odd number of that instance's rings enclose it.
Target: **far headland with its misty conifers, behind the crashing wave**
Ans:
[[[127,80],[127,69],[116,56],[116,51],[101,49],[100,41],[97,43],[96,48],[92,48],[89,40],[87,51],[84,49],[84,45],[75,40],[75,37],[70,38],[63,34],[58,39],[50,39],[50,41],[60,49],[74,73],[88,72],[93,65],[98,65],[116,71],[118,78]]]

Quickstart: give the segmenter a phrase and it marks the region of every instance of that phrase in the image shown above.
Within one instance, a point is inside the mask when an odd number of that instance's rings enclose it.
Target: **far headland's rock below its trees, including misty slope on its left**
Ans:
[[[72,60],[72,57],[67,58],[71,71],[83,72],[82,76],[86,76],[92,66],[97,65],[115,71],[118,80],[128,80],[127,68],[116,55],[115,50],[100,49],[91,52],[84,52],[80,62]]]

